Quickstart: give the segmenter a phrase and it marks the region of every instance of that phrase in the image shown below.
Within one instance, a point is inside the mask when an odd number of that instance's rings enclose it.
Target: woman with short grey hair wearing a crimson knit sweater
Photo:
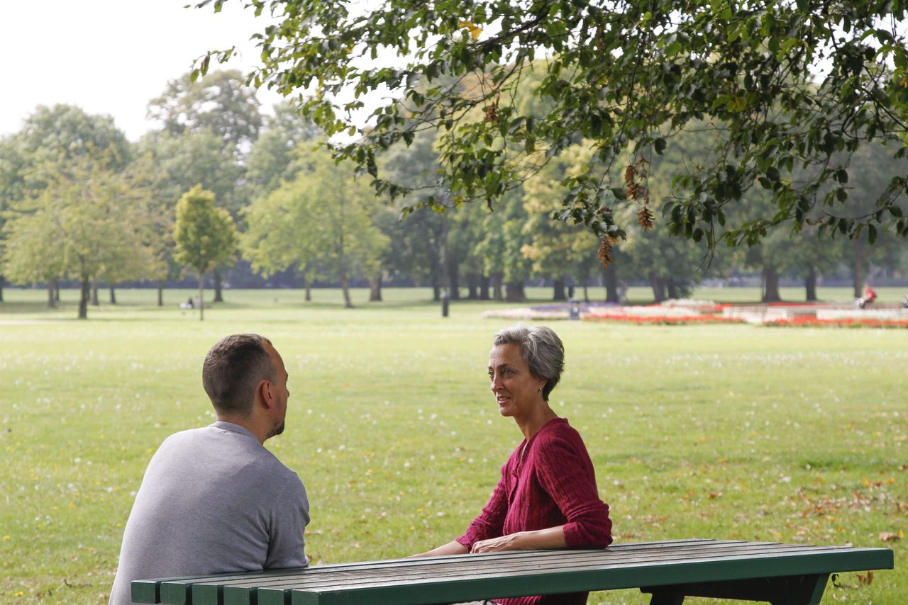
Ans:
[[[564,370],[564,346],[548,327],[508,327],[495,335],[489,379],[498,413],[523,433],[501,480],[467,533],[423,552],[432,557],[467,552],[605,548],[612,542],[608,506],[599,500],[587,448],[566,418],[548,405]],[[587,593],[499,599],[501,605],[573,605]]]

